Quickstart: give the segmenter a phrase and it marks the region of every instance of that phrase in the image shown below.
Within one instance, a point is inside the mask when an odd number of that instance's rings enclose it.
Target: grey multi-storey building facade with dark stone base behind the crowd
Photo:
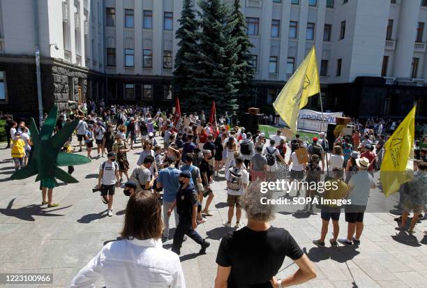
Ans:
[[[86,99],[172,105],[182,0],[34,1],[36,9],[29,0],[0,1],[2,109],[36,107],[37,29],[45,107]],[[427,115],[427,1],[241,0],[241,7],[254,45],[253,105],[271,109],[314,45],[325,109],[403,116],[416,100],[419,116]],[[319,97],[308,106],[319,109]]]

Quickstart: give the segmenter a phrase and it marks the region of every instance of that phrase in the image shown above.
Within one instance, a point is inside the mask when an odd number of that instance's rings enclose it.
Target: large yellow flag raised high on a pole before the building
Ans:
[[[317,93],[320,93],[320,82],[316,51],[313,46],[273,103],[274,109],[289,125],[292,132],[297,132],[299,109],[307,105],[308,97]]]

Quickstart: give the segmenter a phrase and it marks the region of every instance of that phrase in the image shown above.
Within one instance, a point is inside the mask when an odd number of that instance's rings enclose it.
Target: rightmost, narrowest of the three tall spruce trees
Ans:
[[[230,38],[233,38],[237,43],[234,86],[237,88],[239,110],[246,111],[247,107],[253,105],[253,97],[255,96],[255,89],[252,85],[255,70],[248,63],[248,54],[250,54],[250,48],[253,47],[253,44],[250,43],[248,33],[246,33],[246,19],[245,15],[241,13],[240,5],[240,0],[234,0],[228,25],[230,26]]]

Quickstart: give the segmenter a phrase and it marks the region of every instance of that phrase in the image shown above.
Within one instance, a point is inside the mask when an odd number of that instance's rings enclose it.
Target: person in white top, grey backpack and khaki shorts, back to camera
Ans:
[[[241,156],[238,156],[234,161],[234,167],[230,167],[228,171],[225,172],[225,179],[227,180],[228,219],[223,222],[223,225],[228,228],[231,227],[234,215],[234,206],[236,206],[236,225],[234,225],[234,228],[239,228],[241,225],[240,199],[249,184],[249,174],[243,167],[244,159]]]

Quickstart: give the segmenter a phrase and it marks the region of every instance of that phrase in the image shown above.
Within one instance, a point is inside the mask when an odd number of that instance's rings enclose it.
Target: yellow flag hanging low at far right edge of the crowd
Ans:
[[[393,135],[384,144],[380,181],[386,197],[399,190],[400,185],[413,179],[413,167],[407,169],[414,147],[414,106]],[[411,171],[412,169],[412,171]]]

